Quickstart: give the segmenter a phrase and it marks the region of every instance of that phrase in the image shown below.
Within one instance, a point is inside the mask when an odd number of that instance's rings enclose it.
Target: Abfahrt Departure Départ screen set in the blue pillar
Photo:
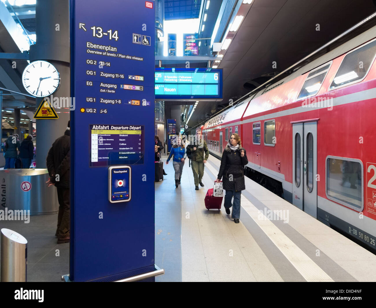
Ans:
[[[93,124],[89,131],[90,167],[144,163],[144,126]]]

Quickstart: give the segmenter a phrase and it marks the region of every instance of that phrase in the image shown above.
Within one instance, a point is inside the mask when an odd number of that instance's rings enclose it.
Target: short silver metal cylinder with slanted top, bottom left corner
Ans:
[[[1,282],[26,282],[27,240],[10,229],[1,229]]]

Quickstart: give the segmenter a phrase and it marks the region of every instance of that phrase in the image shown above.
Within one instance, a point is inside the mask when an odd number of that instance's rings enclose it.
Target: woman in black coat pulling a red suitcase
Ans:
[[[244,182],[244,166],[246,164],[248,164],[248,159],[246,150],[241,147],[240,137],[238,134],[232,134],[222,154],[217,181],[219,182],[223,176],[223,189],[226,190],[224,208],[226,214],[230,214],[232,206],[231,218],[235,223],[239,223],[240,218],[241,191],[246,189]],[[232,197],[234,197],[233,204],[231,204]]]

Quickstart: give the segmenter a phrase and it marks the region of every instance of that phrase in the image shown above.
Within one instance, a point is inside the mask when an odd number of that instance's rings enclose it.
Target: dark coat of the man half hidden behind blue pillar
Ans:
[[[70,184],[70,130],[52,144],[47,155],[47,170],[52,183],[56,187],[69,188]],[[56,174],[59,181],[55,182]]]

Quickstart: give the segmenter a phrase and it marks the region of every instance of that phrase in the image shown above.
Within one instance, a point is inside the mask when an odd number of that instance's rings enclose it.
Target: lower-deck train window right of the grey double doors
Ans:
[[[363,210],[363,165],[359,159],[327,156],[326,196],[356,211]]]

